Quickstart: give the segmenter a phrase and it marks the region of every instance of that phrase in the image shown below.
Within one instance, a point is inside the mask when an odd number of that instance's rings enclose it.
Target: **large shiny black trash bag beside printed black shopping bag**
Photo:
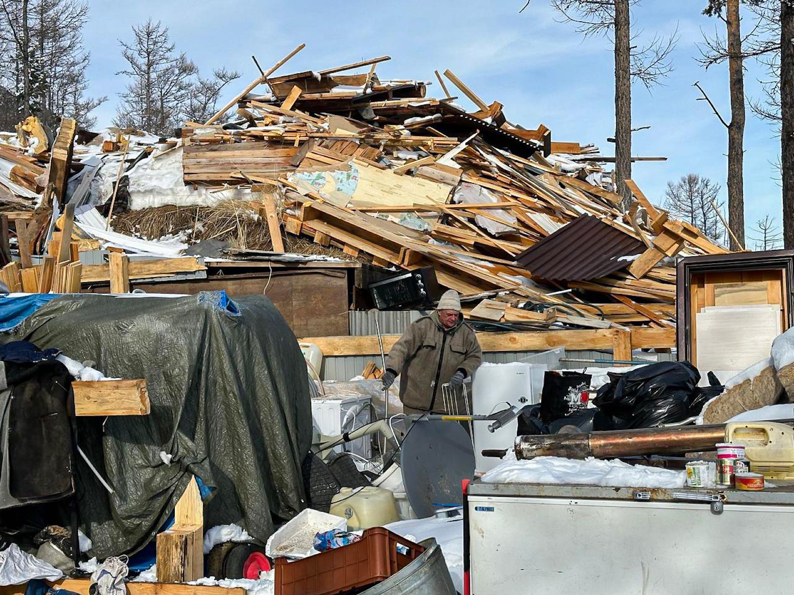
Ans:
[[[691,417],[700,373],[688,362],[651,363],[626,374],[607,372],[593,404],[615,418],[617,429],[653,428]]]

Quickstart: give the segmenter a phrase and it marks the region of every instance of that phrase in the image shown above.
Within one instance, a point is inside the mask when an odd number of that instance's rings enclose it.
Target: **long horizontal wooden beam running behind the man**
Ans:
[[[611,349],[615,344],[615,335],[618,332],[624,331],[615,328],[599,328],[583,331],[478,332],[476,335],[483,351],[497,353],[503,351],[545,351],[553,349],[553,347]],[[676,346],[676,329],[672,327],[631,328],[629,332],[634,349]],[[399,337],[399,335],[384,335],[384,349],[390,350]],[[300,341],[316,344],[326,357],[380,353],[378,337],[374,335],[306,337]]]

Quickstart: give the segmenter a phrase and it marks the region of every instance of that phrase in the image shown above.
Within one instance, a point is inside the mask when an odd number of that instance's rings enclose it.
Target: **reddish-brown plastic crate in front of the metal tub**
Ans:
[[[408,548],[408,555],[397,545]],[[383,527],[366,529],[360,541],[287,562],[276,559],[275,595],[335,595],[384,581],[425,548]]]

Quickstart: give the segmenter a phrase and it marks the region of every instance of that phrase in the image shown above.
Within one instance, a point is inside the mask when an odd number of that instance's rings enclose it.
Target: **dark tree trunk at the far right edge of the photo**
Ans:
[[[781,1],[781,172],[783,245],[794,248],[794,2]]]

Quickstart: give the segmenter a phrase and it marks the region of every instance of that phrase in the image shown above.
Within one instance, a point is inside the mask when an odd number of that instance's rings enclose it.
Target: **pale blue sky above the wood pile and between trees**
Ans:
[[[723,186],[727,175],[727,131],[692,83],[700,81],[723,117],[730,117],[727,64],[704,71],[696,63],[701,29],[713,33],[721,21],[703,17],[705,0],[645,0],[633,10],[638,40],[678,29],[675,70],[650,93],[633,88],[634,155],[661,155],[666,162],[634,163],[632,177],[653,202],[661,202],[668,180],[688,173],[705,175]],[[381,78],[435,80],[433,71],[451,69],[485,102],[503,103],[508,119],[526,128],[544,124],[554,140],[593,143],[614,155],[607,143],[615,127],[611,42],[583,39],[574,26],[560,22],[548,0],[532,0],[522,14],[522,0],[483,3],[471,0],[294,0],[294,2],[187,2],[186,0],[92,0],[91,21],[83,35],[91,51],[89,93],[110,100],[94,113],[98,125],[113,117],[125,77],[118,39],[129,40],[130,26],[148,17],[168,25],[172,41],[207,75],[228,67],[242,73],[224,100],[295,45],[306,48],[278,74],[321,69],[359,59],[389,55],[379,64]],[[750,28],[750,16],[742,22]],[[746,64],[745,90],[761,96],[764,72]],[[429,94],[441,95],[437,83]],[[470,106],[465,98],[461,104]],[[769,214],[781,220],[781,190],[773,163],[780,140],[765,121],[750,114],[745,129],[745,219],[747,227]],[[750,235],[753,235],[750,232]]]

